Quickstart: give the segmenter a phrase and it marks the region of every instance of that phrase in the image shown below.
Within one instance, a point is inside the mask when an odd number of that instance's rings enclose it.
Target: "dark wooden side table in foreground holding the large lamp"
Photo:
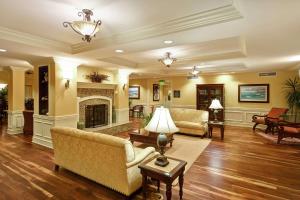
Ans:
[[[143,176],[143,197],[146,199],[146,192],[147,192],[147,178],[151,177],[157,180],[157,187],[159,191],[160,181],[166,184],[166,196],[167,200],[171,200],[172,198],[172,183],[173,181],[179,177],[179,196],[182,199],[183,196],[183,176],[185,166],[187,164],[186,161],[178,160],[175,158],[169,158],[169,164],[165,167],[160,167],[155,165],[156,157],[151,158],[142,164],[139,165],[141,169],[141,174]]]

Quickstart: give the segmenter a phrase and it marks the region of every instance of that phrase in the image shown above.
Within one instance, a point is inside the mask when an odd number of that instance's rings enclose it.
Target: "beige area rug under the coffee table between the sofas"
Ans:
[[[210,139],[188,135],[175,134],[173,146],[167,145],[166,154],[169,157],[185,160],[187,165],[185,167],[185,173],[189,170],[192,164],[197,160],[204,149],[209,145]],[[134,143],[140,148],[145,148],[148,145],[141,143]],[[173,182],[176,185],[178,180]]]

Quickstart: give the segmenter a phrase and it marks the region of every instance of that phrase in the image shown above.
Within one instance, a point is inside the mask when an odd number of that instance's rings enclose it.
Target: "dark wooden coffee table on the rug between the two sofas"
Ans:
[[[146,144],[151,144],[151,145],[157,145],[157,136],[159,133],[154,133],[154,132],[148,132],[145,130],[139,130],[136,132],[129,133],[130,136],[130,141],[133,144],[134,142],[141,142],[141,143],[146,143]],[[170,143],[170,147],[172,147],[173,144],[173,133],[171,134],[166,134],[168,143]]]

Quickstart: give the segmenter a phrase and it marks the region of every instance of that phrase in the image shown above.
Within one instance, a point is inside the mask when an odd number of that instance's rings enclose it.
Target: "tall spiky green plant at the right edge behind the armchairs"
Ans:
[[[295,114],[294,121],[297,121],[297,112],[300,108],[300,80],[298,77],[289,78],[284,83],[285,97],[292,114]]]

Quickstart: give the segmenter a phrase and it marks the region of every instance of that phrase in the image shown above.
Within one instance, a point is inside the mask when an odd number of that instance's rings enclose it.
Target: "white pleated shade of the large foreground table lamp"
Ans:
[[[161,106],[155,109],[154,115],[145,130],[156,133],[175,133],[179,129],[175,126],[169,109]]]

